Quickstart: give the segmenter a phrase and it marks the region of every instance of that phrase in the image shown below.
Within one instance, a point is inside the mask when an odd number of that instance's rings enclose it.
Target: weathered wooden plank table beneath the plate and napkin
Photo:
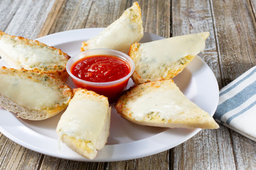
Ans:
[[[35,39],[78,28],[107,27],[133,1],[1,0],[0,30]],[[200,57],[220,89],[256,64],[256,1],[139,0],[144,31],[164,38],[209,31]],[[75,162],[33,152],[0,133],[0,169],[256,169],[256,142],[220,125],[177,147],[122,162]]]

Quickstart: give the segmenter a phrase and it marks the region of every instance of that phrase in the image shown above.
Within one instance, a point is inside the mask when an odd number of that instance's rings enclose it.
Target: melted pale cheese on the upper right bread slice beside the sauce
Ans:
[[[207,37],[208,33],[198,33],[142,43],[136,70],[142,77],[166,76],[163,72],[180,64],[183,57],[195,56],[203,51]]]

